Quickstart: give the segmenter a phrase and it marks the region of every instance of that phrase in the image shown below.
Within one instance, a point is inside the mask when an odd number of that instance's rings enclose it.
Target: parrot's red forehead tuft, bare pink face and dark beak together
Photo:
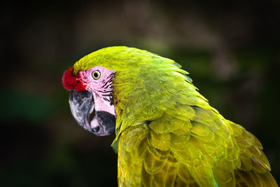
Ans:
[[[73,74],[73,67],[64,72],[62,83],[70,90],[69,104],[73,117],[85,130],[98,136],[112,134],[116,126],[113,106],[115,71],[92,67]]]

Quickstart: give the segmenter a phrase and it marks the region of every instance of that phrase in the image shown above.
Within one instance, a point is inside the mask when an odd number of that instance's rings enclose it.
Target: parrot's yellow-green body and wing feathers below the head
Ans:
[[[277,186],[258,139],[196,93],[122,132],[120,186]]]

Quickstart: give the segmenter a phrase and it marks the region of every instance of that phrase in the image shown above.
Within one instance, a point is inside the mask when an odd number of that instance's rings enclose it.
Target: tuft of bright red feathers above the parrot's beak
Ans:
[[[79,80],[79,75],[73,75],[73,67],[69,67],[68,70],[64,71],[62,76],[62,84],[66,90],[73,90],[75,89],[77,92],[84,91],[86,88],[85,83]]]

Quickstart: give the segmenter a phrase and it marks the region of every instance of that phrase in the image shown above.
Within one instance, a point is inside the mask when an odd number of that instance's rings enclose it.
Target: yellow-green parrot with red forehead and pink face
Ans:
[[[106,47],[62,84],[78,125],[116,135],[118,186],[278,186],[260,141],[210,106],[174,60]]]

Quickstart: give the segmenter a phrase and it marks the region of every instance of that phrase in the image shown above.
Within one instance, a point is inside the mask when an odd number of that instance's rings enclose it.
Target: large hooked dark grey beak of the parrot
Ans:
[[[90,92],[71,90],[69,104],[73,118],[88,132],[97,136],[106,136],[115,132],[116,116],[106,111],[94,111],[94,99]],[[92,120],[91,116],[93,116]]]

